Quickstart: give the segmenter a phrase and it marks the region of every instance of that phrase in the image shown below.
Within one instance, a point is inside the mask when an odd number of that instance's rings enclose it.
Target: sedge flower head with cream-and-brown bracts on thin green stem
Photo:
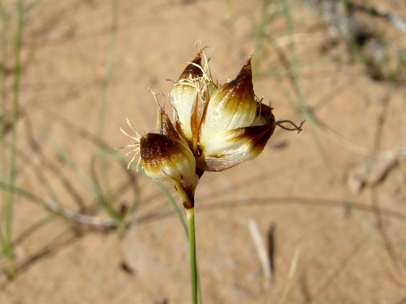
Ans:
[[[182,200],[187,216],[193,304],[198,295],[194,193],[200,177],[205,171],[224,171],[256,158],[277,126],[301,131],[301,124],[276,121],[273,108],[262,104],[254,94],[252,54],[234,80],[219,86],[213,81],[204,50],[199,48],[174,81],[170,97],[175,122],[169,119],[164,103],[158,102],[158,96],[163,94],[153,93],[159,133],[140,135],[128,119],[134,135],[121,129],[132,139],[121,147],[131,148],[127,155],[134,154],[128,168],[140,154],[138,163],[144,172],[156,181],[174,184]]]

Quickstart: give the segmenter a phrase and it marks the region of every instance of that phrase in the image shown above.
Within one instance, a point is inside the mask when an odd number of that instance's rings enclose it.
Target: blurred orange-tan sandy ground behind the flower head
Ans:
[[[406,16],[402,1],[396,5]],[[299,135],[277,129],[257,159],[202,176],[195,216],[204,302],[405,303],[406,163],[395,150],[406,146],[405,87],[371,80],[340,41],[326,48],[332,36],[324,20],[299,2],[291,7],[293,37],[277,14],[256,38],[262,6],[238,0],[119,1],[105,141],[110,147],[127,143],[119,132],[126,117],[140,131],[154,130],[156,105],[147,88],[170,92],[166,80],[179,77],[198,40],[214,48],[207,53],[220,83],[235,77],[256,47],[256,94],[272,100],[277,119],[299,122],[303,117],[291,105],[298,102],[297,90],[280,55],[297,60],[302,95],[325,127],[308,120]],[[14,2],[8,7],[15,20]],[[278,9],[272,4],[266,10]],[[96,0],[43,0],[26,13],[17,124],[17,147],[27,159],[17,160],[16,184],[49,199],[33,173],[37,166],[64,206],[102,219],[106,212],[58,158],[49,137],[90,176],[99,151],[91,135],[98,132],[111,19],[111,3]],[[269,66],[278,69],[280,82],[259,76]],[[7,81],[11,90],[12,75]],[[387,174],[371,165],[377,155],[391,162],[381,164]],[[2,275],[0,303],[190,302],[188,245],[170,203],[143,173],[133,172],[131,181],[124,165],[107,159],[107,166],[117,210],[139,196],[128,216],[133,224],[120,236],[53,216],[15,247],[17,273],[11,281]],[[371,174],[378,178],[355,193],[357,181]],[[13,234],[46,216],[44,207],[17,195]],[[251,220],[265,247],[272,240],[268,286]]]

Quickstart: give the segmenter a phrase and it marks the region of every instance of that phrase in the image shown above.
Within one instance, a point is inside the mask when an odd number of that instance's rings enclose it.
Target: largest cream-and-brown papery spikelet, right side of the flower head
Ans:
[[[199,133],[197,167],[223,171],[257,157],[275,130],[272,109],[255,100],[251,59],[211,96]]]

